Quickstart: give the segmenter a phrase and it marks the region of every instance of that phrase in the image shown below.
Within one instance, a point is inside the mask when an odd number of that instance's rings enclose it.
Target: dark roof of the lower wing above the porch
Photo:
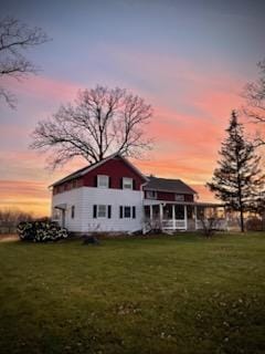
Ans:
[[[159,178],[153,176],[148,177],[148,179],[149,181],[146,184],[145,190],[159,190],[188,195],[197,194],[194,189],[186,185],[180,179]]]

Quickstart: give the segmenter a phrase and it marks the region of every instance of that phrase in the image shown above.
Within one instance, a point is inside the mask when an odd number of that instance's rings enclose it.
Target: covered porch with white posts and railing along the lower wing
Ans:
[[[145,200],[144,208],[147,230],[195,231],[203,229],[202,220],[208,218],[216,220],[216,229],[227,229],[224,207],[219,204]]]

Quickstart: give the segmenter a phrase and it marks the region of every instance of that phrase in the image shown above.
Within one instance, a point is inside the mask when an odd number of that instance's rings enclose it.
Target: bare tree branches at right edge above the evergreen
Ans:
[[[265,124],[265,59],[259,62],[259,79],[245,86],[243,96],[246,98],[245,114],[258,124]],[[258,136],[257,145],[265,145],[265,137]]]

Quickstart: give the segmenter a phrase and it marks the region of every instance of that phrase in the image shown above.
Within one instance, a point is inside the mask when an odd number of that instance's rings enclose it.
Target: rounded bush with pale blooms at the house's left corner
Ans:
[[[21,221],[18,225],[21,240],[32,242],[57,241],[68,237],[67,230],[49,220]]]

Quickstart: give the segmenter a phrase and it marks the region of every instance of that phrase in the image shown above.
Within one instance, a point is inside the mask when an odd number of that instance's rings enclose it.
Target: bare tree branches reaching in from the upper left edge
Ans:
[[[11,17],[0,20],[0,81],[6,76],[21,80],[28,74],[35,74],[38,67],[23,52],[47,40],[47,35],[40,28],[29,28]],[[15,107],[15,96],[2,85],[0,98],[6,100],[10,107]]]

